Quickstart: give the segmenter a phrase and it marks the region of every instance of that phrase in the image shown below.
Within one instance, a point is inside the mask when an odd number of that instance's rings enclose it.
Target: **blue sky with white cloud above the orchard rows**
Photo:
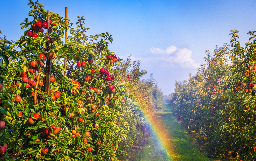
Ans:
[[[87,35],[108,32],[113,36],[109,49],[117,56],[141,60],[141,69],[153,73],[165,95],[174,92],[175,80],[188,79],[205,63],[205,51],[230,42],[230,30],[238,30],[240,42],[256,30],[256,0],[145,0],[85,1],[39,0],[45,10],[76,22],[85,16]],[[0,30],[8,40],[18,40],[19,26],[28,17],[27,0],[1,2]]]

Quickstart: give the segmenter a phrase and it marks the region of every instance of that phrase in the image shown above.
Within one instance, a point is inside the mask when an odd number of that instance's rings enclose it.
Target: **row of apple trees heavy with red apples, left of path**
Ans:
[[[149,135],[140,109],[162,107],[154,79],[110,52],[108,33],[85,35],[82,16],[74,25],[28,5],[20,39],[0,40],[0,159],[129,160]]]

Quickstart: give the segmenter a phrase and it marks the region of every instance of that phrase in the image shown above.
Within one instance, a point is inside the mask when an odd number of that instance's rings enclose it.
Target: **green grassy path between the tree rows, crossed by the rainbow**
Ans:
[[[198,148],[193,145],[192,140],[182,131],[179,123],[171,114],[169,106],[164,112],[156,113],[154,121],[160,126],[161,133],[170,135],[168,145],[171,147],[173,154],[167,155],[168,149],[161,146],[161,135],[154,134],[149,138],[149,144],[142,150],[138,151],[139,159],[136,161],[208,161],[209,159],[202,154]],[[164,125],[164,126],[162,126]]]

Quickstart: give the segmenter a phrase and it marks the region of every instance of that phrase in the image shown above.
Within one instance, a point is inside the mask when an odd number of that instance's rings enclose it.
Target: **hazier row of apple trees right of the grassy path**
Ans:
[[[189,132],[209,142],[209,154],[233,152],[240,160],[256,159],[255,149],[255,50],[256,31],[244,43],[231,31],[231,44],[216,46],[213,55],[188,81],[176,82],[171,94],[174,113]]]

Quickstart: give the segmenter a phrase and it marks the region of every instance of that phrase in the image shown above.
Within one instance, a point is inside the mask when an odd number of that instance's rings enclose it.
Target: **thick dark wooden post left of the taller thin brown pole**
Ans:
[[[49,10],[47,10],[47,14],[49,15]],[[53,32],[52,27],[50,27],[49,23],[49,16],[47,16],[47,29],[48,34]],[[46,44],[46,52],[48,52],[49,44]],[[52,59],[49,58],[49,53],[47,53],[47,59],[46,59],[46,69],[45,69],[45,92],[50,94],[50,76],[51,76],[51,70],[52,70]]]

